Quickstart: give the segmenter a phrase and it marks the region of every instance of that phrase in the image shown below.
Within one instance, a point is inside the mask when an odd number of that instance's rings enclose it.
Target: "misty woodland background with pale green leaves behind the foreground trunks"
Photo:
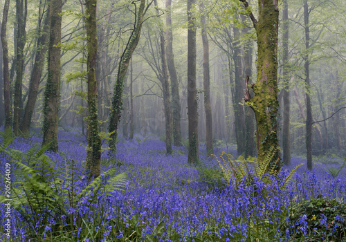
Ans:
[[[18,135],[28,135],[28,127],[42,127],[44,121],[44,91],[49,77],[47,19],[50,3],[46,0],[1,3],[4,10],[6,4],[8,6],[8,19],[3,18],[5,11],[1,16],[2,26],[7,21],[7,28],[2,28],[5,32],[1,32],[1,39],[7,40],[13,129]],[[282,128],[278,133],[284,153],[307,152],[306,127],[309,121],[313,155],[346,155],[344,3],[303,0],[279,4],[277,77],[280,91],[277,100],[280,115],[276,118]],[[61,43],[57,42],[61,48],[59,127],[64,130],[78,129],[86,135],[89,111],[85,6],[82,0],[63,1],[62,4],[62,15],[59,15],[62,17]],[[168,105],[172,115],[169,122],[172,125],[172,143],[183,145],[188,139],[187,80],[190,62],[187,4],[187,1],[170,0],[147,2],[138,46],[131,56],[124,79],[118,125],[118,133],[123,138],[131,139],[134,134],[140,133],[167,140]],[[98,2],[95,76],[101,132],[107,133],[120,57],[136,24],[138,6],[139,1]],[[250,3],[250,6],[257,14],[256,4]],[[210,130],[214,146],[236,145],[239,154],[255,156],[255,117],[244,102],[246,75],[250,77],[248,84],[257,79],[257,44],[251,19],[246,16],[241,2],[201,1],[191,8],[197,32],[198,139],[206,142],[207,131]],[[203,55],[206,43],[208,59]],[[6,68],[3,55],[6,53],[3,48],[0,50],[0,66],[3,66],[0,70],[3,72]],[[161,64],[163,56],[167,67]],[[208,91],[203,80],[203,65],[206,64],[210,72],[209,116],[212,117],[212,125],[209,129],[206,127]],[[3,73],[0,77],[2,125],[6,116],[6,86],[4,89]],[[37,100],[33,102],[29,90],[35,86]],[[168,104],[165,105],[167,98]],[[31,120],[27,116],[31,116]],[[319,122],[321,120],[325,121]]]

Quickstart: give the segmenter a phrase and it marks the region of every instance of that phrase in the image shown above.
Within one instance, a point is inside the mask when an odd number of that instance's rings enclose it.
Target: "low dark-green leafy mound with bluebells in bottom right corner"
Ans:
[[[304,201],[291,210],[287,228],[294,231],[292,239],[297,241],[306,235],[309,235],[310,241],[345,241],[346,203],[321,196]]]

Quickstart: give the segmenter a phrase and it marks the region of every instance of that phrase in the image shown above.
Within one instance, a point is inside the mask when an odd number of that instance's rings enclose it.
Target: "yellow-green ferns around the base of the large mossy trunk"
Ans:
[[[279,147],[274,148],[271,147],[264,157],[262,162],[259,162],[257,158],[248,158],[247,160],[239,156],[239,158],[235,159],[232,155],[227,154],[225,152],[221,153],[220,160],[217,156],[212,155],[216,158],[219,163],[219,167],[221,168],[222,174],[227,183],[230,183],[232,178],[235,178],[235,186],[239,187],[239,185],[245,181],[247,185],[255,185],[257,180],[260,180],[266,184],[270,184],[273,178],[278,179],[281,168],[279,170],[275,169],[280,159],[277,159],[275,162],[271,160],[275,156]],[[283,180],[280,182],[281,187],[284,188],[289,180],[291,180],[294,172],[298,167],[302,164],[296,166]]]

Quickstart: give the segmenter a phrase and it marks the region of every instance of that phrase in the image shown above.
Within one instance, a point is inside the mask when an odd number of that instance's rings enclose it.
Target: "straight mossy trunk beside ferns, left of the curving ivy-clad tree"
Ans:
[[[86,148],[85,171],[89,180],[100,176],[101,172],[101,138],[98,133],[98,84],[96,80],[96,55],[98,39],[96,27],[97,0],[86,0],[86,37],[88,59],[86,68],[88,73],[88,147]]]

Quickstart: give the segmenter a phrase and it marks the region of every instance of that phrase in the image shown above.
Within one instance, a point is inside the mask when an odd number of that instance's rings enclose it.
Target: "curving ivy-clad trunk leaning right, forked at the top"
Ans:
[[[145,7],[145,0],[140,0],[140,6],[136,6],[136,1],[132,2],[134,4],[135,13],[135,23],[132,29],[131,36],[127,42],[122,56],[120,57],[118,75],[116,77],[116,84],[114,86],[114,93],[112,97],[111,113],[109,115],[109,127],[108,131],[111,133],[109,140],[109,148],[113,153],[116,152],[116,138],[118,136],[118,122],[120,120],[120,112],[122,109],[122,90],[124,88],[124,80],[127,73],[127,68],[129,67],[129,61],[131,59],[132,53],[137,47],[138,41],[140,39],[140,30],[142,29],[144,15],[149,6],[152,4],[150,2],[147,7]]]

